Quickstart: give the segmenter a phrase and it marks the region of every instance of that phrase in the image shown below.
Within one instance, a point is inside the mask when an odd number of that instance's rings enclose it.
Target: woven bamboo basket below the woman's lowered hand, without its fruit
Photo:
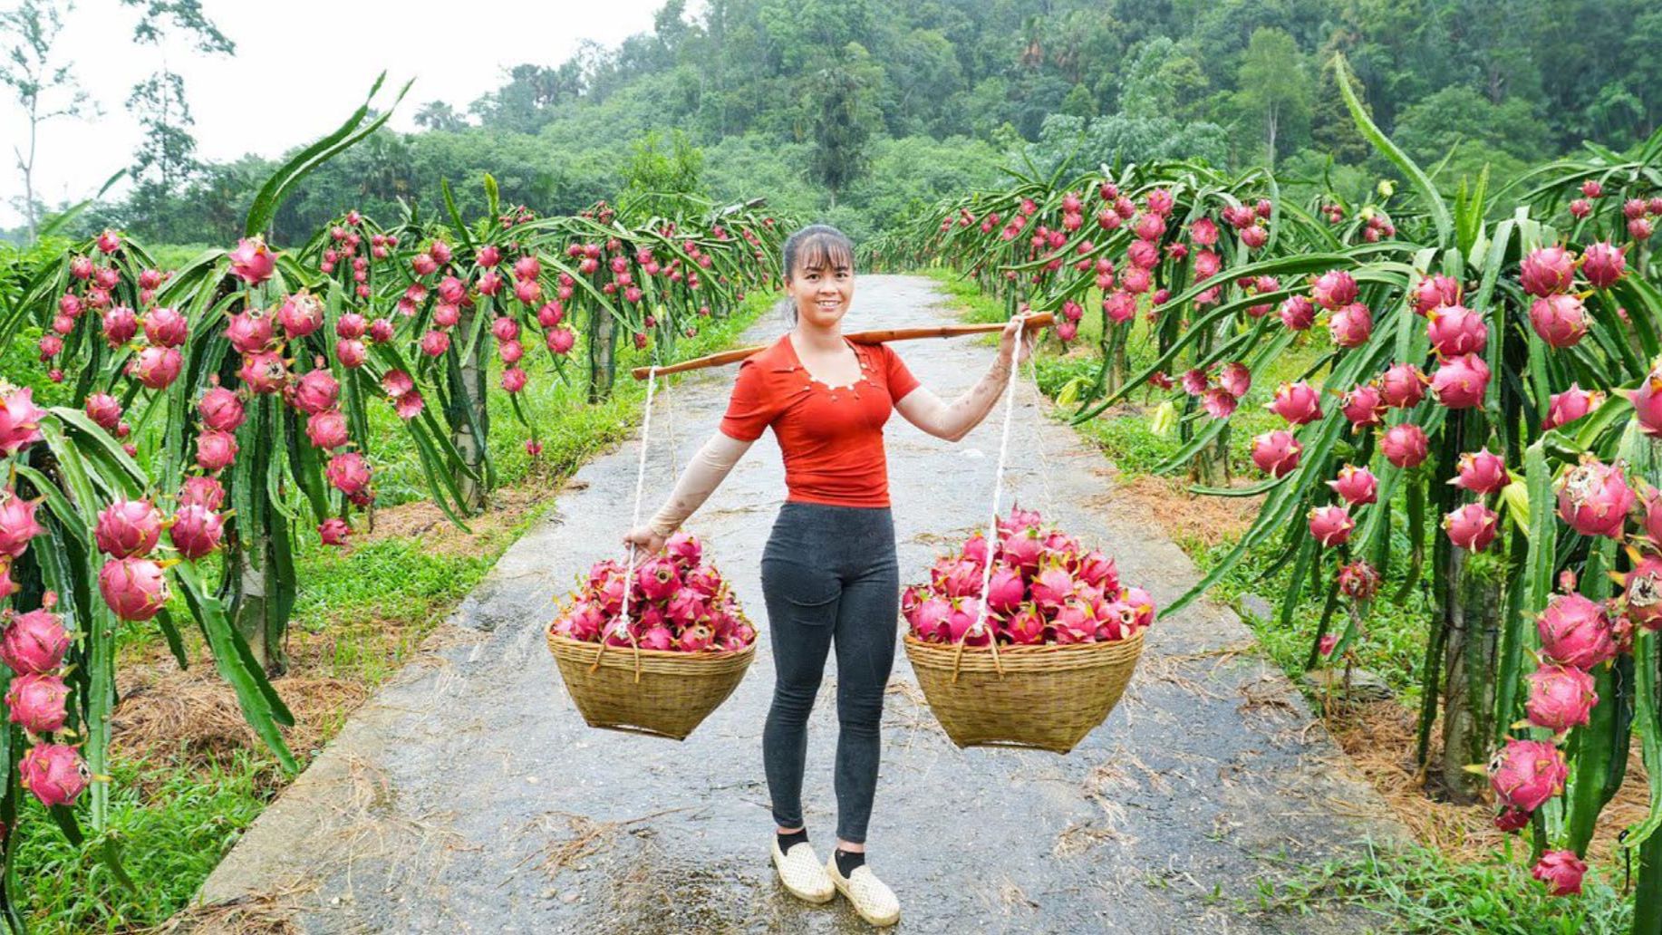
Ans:
[[[663,653],[548,631],[548,651],[590,727],[683,741],[738,688],[756,643],[738,653]]]

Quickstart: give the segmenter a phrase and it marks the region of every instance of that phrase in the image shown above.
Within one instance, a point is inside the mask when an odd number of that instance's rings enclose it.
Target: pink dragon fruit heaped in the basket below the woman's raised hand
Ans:
[[[927,585],[906,588],[901,614],[912,636],[966,646],[987,646],[994,636],[1024,646],[1110,643],[1153,624],[1148,591],[1122,586],[1112,558],[1044,528],[1035,510],[1012,508],[997,521],[997,540],[991,578],[987,536],[977,531],[936,560]],[[977,634],[982,581],[987,611]]]

